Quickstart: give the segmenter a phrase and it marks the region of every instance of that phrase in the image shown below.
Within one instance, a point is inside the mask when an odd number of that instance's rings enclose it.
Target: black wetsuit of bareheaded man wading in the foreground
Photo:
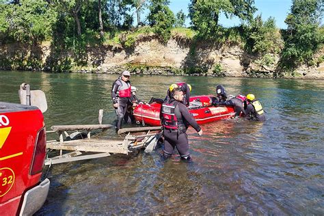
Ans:
[[[165,103],[170,104],[174,103],[174,99],[167,100]],[[163,104],[165,104],[163,103]],[[161,109],[162,110],[162,109]],[[183,103],[177,103],[176,109],[174,111],[178,122],[183,122],[179,130],[176,129],[166,129],[163,130],[164,136],[164,150],[163,154],[166,157],[171,157],[174,148],[176,148],[182,158],[189,157],[189,142],[187,136],[187,128],[189,125],[199,132],[200,126],[195,121],[187,107]],[[160,118],[163,122],[163,114],[160,113]]]

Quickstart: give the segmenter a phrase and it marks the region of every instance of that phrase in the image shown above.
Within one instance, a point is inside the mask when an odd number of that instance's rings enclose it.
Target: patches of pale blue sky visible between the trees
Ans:
[[[190,0],[170,0],[170,9],[174,14],[183,10],[188,14],[188,5]],[[265,21],[270,16],[275,18],[275,24],[280,29],[286,29],[284,20],[291,10],[292,0],[254,0],[254,5],[258,9],[254,16],[261,14],[262,19]],[[189,27],[190,20],[187,18],[185,25]],[[234,27],[240,25],[241,21],[238,18],[227,19],[225,16],[220,17],[219,24],[224,27]]]

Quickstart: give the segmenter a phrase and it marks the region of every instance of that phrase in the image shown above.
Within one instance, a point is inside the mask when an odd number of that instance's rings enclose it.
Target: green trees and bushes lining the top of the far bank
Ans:
[[[14,53],[11,59],[5,57],[10,51],[0,53],[0,67],[66,71],[72,66],[87,65],[89,47],[119,44],[131,51],[139,35],[154,35],[161,42],[180,36],[191,41],[191,55],[199,42],[239,44],[267,64],[273,62],[269,54],[280,55],[282,70],[323,62],[323,56],[314,58],[324,42],[322,0],[293,0],[286,18],[288,28],[281,30],[275,26],[274,18],[263,21],[256,14],[253,0],[192,0],[188,17],[182,10],[175,16],[169,3],[167,0],[0,0],[0,42],[20,44],[25,50]],[[221,13],[237,16],[242,24],[222,27],[218,22]],[[186,18],[191,19],[189,28],[183,27]],[[40,55],[29,52],[31,46],[44,42],[51,44],[51,56],[46,63],[42,63]],[[94,62],[93,66],[99,64],[100,61]],[[219,66],[216,69],[221,70]]]

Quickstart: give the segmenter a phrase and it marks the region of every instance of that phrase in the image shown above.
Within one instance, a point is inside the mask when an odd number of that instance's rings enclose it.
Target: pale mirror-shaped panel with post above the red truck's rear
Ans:
[[[29,84],[23,83],[18,94],[22,105],[38,107],[42,113],[47,110],[46,96],[42,90],[30,90]]]

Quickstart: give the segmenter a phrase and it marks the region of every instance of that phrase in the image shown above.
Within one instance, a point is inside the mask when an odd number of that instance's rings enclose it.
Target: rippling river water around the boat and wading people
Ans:
[[[55,124],[113,124],[111,85],[117,75],[0,72],[0,100],[18,103],[18,87],[45,92],[46,128]],[[323,215],[324,81],[211,77],[132,76],[142,100],[164,98],[185,81],[192,94],[253,93],[267,121],[221,120],[188,131],[193,163],[178,154],[113,155],[53,165],[51,187],[36,215]],[[113,129],[100,134],[116,137]],[[46,169],[45,169],[46,170]]]

